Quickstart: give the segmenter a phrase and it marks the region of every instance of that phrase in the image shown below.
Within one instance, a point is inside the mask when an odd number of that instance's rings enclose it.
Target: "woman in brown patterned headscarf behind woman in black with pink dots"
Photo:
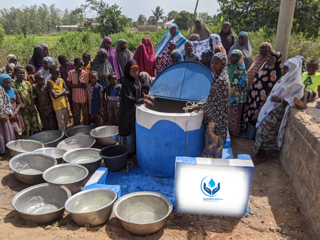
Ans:
[[[261,66],[266,62],[267,56],[271,52],[272,45],[268,42],[264,42],[260,45],[259,54],[254,59],[251,67],[247,71],[247,78],[248,78],[248,89],[250,89],[254,76],[256,72],[259,71]]]

